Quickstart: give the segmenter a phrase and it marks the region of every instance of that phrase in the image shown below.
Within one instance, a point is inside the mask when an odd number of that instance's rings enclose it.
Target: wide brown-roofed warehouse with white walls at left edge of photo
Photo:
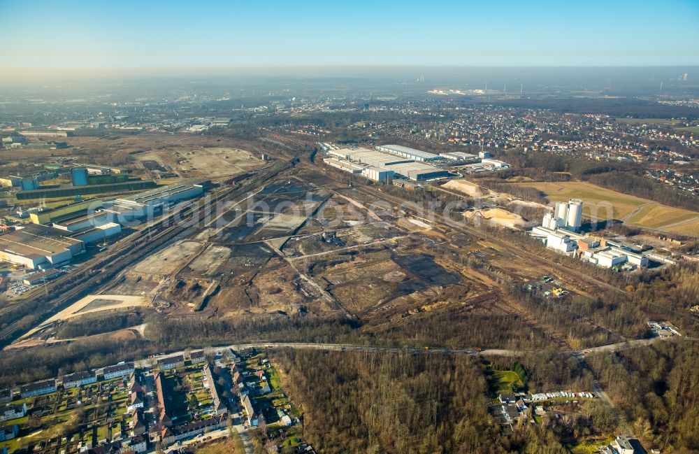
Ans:
[[[0,259],[36,269],[40,264],[66,262],[85,251],[85,245],[65,230],[27,224],[0,235]]]

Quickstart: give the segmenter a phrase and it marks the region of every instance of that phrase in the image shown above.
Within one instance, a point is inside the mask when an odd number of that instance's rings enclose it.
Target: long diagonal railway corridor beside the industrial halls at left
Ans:
[[[224,190],[216,192],[214,194],[215,201],[226,201],[240,197],[252,187],[256,187],[281,171],[289,169],[296,162],[298,162],[296,158],[276,162],[254,174],[240,185],[226,187]],[[47,284],[45,292],[48,297],[38,297],[38,313],[22,314],[17,320],[0,329],[0,346],[6,346],[17,336],[21,336],[31,329],[32,326],[43,322],[67,304],[87,295],[97,285],[107,283],[129,265],[166,245],[187,229],[194,226],[196,226],[194,228],[197,231],[203,229],[201,221],[210,215],[214,207],[213,204],[209,206],[194,204],[185,208],[184,211],[165,215],[157,224],[142,229],[130,241],[124,241],[109,250],[107,254],[99,255],[86,262],[77,274],[68,274]]]

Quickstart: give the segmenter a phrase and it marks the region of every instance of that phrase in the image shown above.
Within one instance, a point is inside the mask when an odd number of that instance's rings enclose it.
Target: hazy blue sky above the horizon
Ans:
[[[699,64],[699,0],[0,0],[0,17],[4,71]]]

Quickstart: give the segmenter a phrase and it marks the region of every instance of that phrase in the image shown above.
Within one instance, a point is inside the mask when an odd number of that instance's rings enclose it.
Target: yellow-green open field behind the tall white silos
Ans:
[[[699,218],[699,213],[694,211],[657,204],[652,200],[608,190],[591,183],[565,181],[518,183],[518,185],[535,187],[551,202],[582,199],[583,215],[587,217],[595,215],[598,220],[607,218],[607,212],[611,211],[615,220],[623,220],[629,225],[678,233],[672,227],[684,227],[683,224],[677,224]]]

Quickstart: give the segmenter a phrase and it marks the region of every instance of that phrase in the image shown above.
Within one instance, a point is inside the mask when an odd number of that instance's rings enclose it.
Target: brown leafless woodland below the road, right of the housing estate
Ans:
[[[319,453],[565,453],[549,430],[499,434],[473,357],[281,350]]]

